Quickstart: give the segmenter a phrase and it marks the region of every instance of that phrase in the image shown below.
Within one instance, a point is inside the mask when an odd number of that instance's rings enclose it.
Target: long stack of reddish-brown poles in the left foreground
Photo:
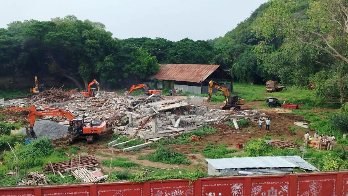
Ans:
[[[98,167],[99,161],[94,156],[87,156],[87,157],[81,157],[80,158],[80,165],[79,165],[79,158],[71,159],[67,161],[61,161],[57,163],[46,164],[44,165],[44,169],[42,171],[45,172],[53,172],[53,169],[55,172],[66,172],[71,171],[73,169],[78,168],[96,168]]]

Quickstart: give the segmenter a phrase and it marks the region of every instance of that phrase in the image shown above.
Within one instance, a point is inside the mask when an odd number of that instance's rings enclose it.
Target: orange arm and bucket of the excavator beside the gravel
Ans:
[[[60,109],[51,108],[51,107],[42,107],[42,108],[46,109],[46,111],[37,111],[35,105],[30,106],[29,114],[27,118],[28,124],[26,126],[26,136],[29,136],[29,134],[31,134],[33,138],[37,137],[35,132],[33,131],[35,119],[37,116],[63,116],[67,118],[69,121],[75,118],[75,116],[68,110],[60,110]]]

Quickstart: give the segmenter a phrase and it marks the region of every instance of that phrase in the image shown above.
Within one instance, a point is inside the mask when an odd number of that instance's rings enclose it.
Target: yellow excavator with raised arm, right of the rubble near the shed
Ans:
[[[213,88],[217,89],[218,91],[222,91],[225,95],[225,99],[226,101],[223,102],[223,104],[225,104],[224,106],[222,106],[222,110],[240,110],[240,105],[244,105],[245,101],[244,99],[240,99],[237,95],[230,95],[230,91],[228,90],[228,88],[226,88],[225,86],[214,82],[214,81],[210,81],[209,82],[209,86],[208,86],[208,95],[209,97],[207,98],[207,101],[204,100],[204,102],[209,102],[211,100],[212,97],[212,92],[213,92]]]

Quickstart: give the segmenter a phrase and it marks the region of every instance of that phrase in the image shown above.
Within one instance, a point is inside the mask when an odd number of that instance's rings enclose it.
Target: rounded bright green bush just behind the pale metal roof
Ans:
[[[255,139],[247,142],[244,150],[248,157],[259,157],[266,156],[271,147],[262,139]]]

